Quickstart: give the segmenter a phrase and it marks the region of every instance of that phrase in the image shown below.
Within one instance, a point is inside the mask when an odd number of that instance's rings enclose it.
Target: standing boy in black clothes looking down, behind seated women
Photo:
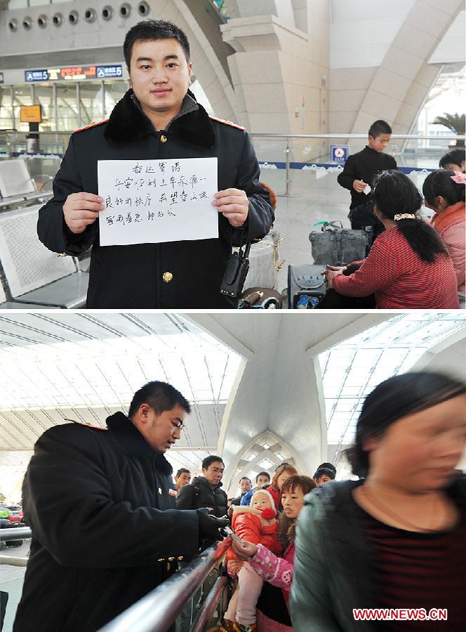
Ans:
[[[384,230],[375,217],[371,205],[371,182],[375,173],[385,169],[397,169],[397,162],[383,152],[390,143],[392,128],[386,121],[375,121],[368,132],[368,143],[364,150],[349,156],[345,168],[338,176],[338,184],[351,191],[349,220],[351,228],[373,229],[373,239]]]

